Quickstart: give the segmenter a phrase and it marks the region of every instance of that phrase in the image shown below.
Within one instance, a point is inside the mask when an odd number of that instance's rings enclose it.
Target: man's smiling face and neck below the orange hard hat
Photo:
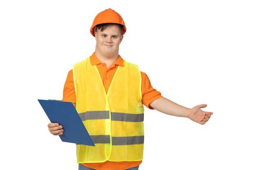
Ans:
[[[118,24],[108,24],[95,31],[97,57],[118,57],[119,44],[123,39],[122,28]]]

